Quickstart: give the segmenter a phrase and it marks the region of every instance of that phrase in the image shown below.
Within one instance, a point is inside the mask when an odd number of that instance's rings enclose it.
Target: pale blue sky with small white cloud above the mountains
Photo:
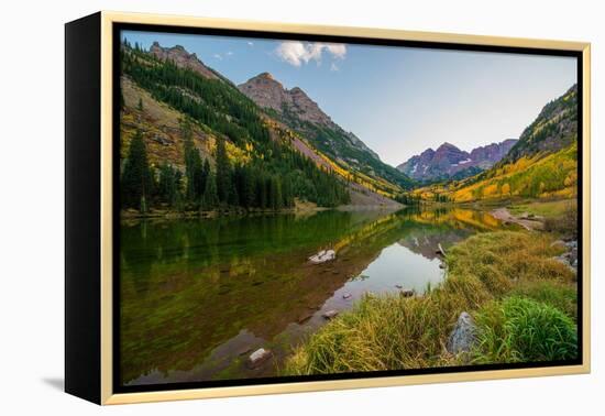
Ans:
[[[518,138],[578,79],[575,58],[123,32],[183,45],[235,84],[268,72],[398,165],[443,142],[470,151]]]

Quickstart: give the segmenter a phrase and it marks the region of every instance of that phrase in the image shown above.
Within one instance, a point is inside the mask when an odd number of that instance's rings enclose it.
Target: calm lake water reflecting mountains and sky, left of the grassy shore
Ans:
[[[436,254],[499,227],[474,210],[321,211],[124,222],[121,353],[125,384],[276,374],[292,347],[363,294],[421,294]],[[307,259],[333,249],[334,261]],[[346,297],[346,298],[345,298]],[[245,365],[257,348],[274,359]]]

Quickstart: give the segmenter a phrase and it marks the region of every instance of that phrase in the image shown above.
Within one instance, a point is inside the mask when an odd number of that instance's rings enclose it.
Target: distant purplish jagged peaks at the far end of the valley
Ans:
[[[421,154],[410,157],[397,168],[413,179],[420,182],[462,179],[492,167],[516,143],[517,140],[507,139],[501,143],[473,149],[469,153],[446,142],[437,151],[428,149]]]

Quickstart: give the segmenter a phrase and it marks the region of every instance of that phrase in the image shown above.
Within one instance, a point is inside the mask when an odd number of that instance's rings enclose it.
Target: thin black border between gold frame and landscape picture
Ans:
[[[266,40],[295,40],[308,42],[330,42],[330,43],[346,43],[362,44],[376,46],[398,46],[408,48],[427,48],[427,50],[446,50],[458,52],[487,52],[487,53],[508,53],[521,55],[546,55],[558,57],[574,57],[576,58],[576,83],[578,83],[578,351],[579,357],[575,360],[549,361],[549,362],[524,362],[510,364],[477,364],[477,365],[461,365],[447,368],[430,368],[430,369],[409,369],[409,370],[388,370],[375,372],[351,372],[337,374],[321,375],[300,375],[300,376],[274,376],[258,379],[234,379],[234,380],[215,380],[199,382],[178,382],[178,383],[158,383],[158,384],[142,384],[142,385],[122,385],[120,372],[120,172],[119,164],[113,163],[112,172],[112,393],[142,393],[142,392],[158,392],[158,391],[176,391],[176,390],[193,390],[193,388],[211,388],[211,387],[231,387],[246,386],[261,384],[283,384],[283,383],[300,383],[300,382],[321,382],[334,380],[352,380],[352,379],[376,379],[389,376],[420,375],[420,374],[449,374],[449,373],[468,373],[482,372],[491,370],[516,370],[516,369],[539,369],[564,365],[582,365],[584,363],[584,314],[583,314],[583,240],[584,240],[584,216],[583,216],[583,199],[584,199],[584,178],[583,178],[583,151],[584,151],[584,63],[582,51],[569,50],[551,50],[551,48],[534,48],[534,47],[517,47],[517,46],[496,46],[496,45],[474,45],[465,43],[446,43],[432,41],[406,41],[391,39],[370,39],[362,36],[341,36],[341,35],[319,35],[319,34],[302,34],[289,32],[270,32],[254,30],[235,30],[235,29],[216,29],[216,28],[193,28],[178,25],[158,25],[145,23],[112,23],[112,157],[113,162],[120,160],[120,34],[122,31],[139,31],[139,32],[157,32],[167,34],[193,34],[193,35],[210,35],[210,36],[228,36],[228,37],[251,37]]]

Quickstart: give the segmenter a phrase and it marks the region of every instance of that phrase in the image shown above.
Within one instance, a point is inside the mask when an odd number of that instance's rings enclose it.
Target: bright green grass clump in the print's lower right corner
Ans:
[[[479,344],[475,363],[536,362],[578,357],[575,324],[561,310],[512,296],[475,314]]]

